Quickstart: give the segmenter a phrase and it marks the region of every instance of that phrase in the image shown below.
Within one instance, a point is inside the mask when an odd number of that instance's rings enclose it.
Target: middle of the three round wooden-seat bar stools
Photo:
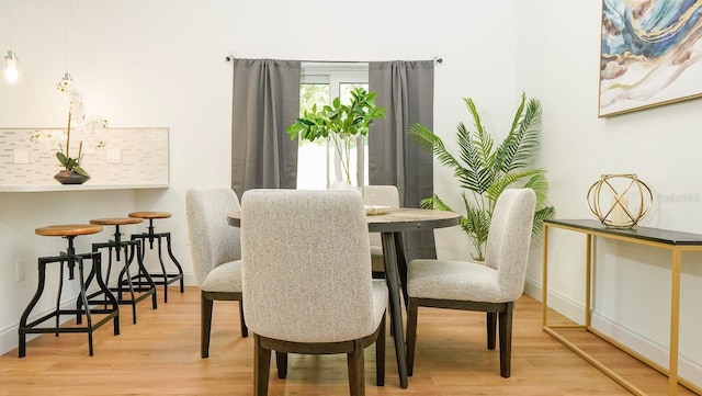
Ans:
[[[122,233],[120,233],[120,226],[131,225],[131,224],[139,224],[144,222],[140,218],[136,217],[111,217],[111,218],[93,218],[90,220],[90,224],[95,224],[100,226],[114,226],[114,239],[110,239],[106,242],[98,242],[92,244],[92,251],[100,251],[100,249],[107,249],[107,273],[105,274],[104,281],[105,283],[110,282],[110,273],[112,271],[112,251],[114,249],[114,258],[115,261],[121,261],[121,252],[124,250],[124,267],[122,271],[120,271],[120,275],[117,278],[117,286],[109,287],[110,291],[116,292],[117,304],[129,304],[132,305],[132,321],[136,324],[136,304],[148,296],[151,296],[151,307],[152,309],[157,308],[156,303],[156,284],[151,276],[146,271],[144,267],[144,256],[141,250],[141,244],[138,240],[122,240]],[[134,256],[136,251],[136,262],[137,262],[137,273],[132,275],[129,268],[132,267],[132,262],[134,261]],[[91,271],[88,275],[88,280],[86,284],[90,286],[91,281],[95,276],[95,272]],[[139,284],[135,287],[136,280]],[[128,293],[129,298],[124,298],[124,294]],[[140,293],[137,295],[137,293]],[[103,301],[95,299],[95,297],[103,295],[102,291],[98,291],[88,296],[89,304],[100,304],[104,303]],[[80,299],[78,301],[78,308],[80,309]]]

